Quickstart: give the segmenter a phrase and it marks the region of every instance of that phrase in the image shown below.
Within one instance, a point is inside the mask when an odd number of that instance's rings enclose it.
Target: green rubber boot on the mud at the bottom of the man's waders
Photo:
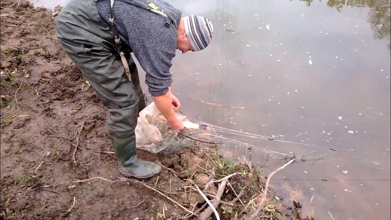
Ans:
[[[160,173],[161,167],[154,162],[137,157],[135,132],[108,131],[111,144],[118,158],[119,170],[126,177],[145,179]]]

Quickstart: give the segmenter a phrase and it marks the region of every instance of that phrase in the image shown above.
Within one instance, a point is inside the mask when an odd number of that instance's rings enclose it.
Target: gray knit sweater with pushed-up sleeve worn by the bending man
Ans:
[[[135,2],[144,4],[140,0]],[[154,3],[163,11],[173,14],[176,25],[179,24],[181,11],[161,0],[154,0]],[[109,8],[110,0],[98,0],[99,15],[106,23],[109,22]],[[172,82],[170,67],[176,51],[178,26],[167,27],[163,16],[120,1],[114,2],[113,15],[122,42],[131,47],[141,67],[147,73],[145,83],[151,95],[166,94]]]

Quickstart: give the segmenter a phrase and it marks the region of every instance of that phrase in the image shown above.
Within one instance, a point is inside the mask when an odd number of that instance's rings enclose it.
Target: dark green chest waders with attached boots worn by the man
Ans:
[[[143,0],[147,6],[131,0],[117,1],[165,16],[166,25],[173,21],[149,0]],[[136,153],[137,117],[145,107],[136,64],[131,50],[121,45],[111,9],[108,27],[100,19],[96,3],[97,0],[68,2],[57,18],[57,38],[108,110],[106,128],[120,172],[128,177],[149,178],[160,173],[161,167],[139,159]],[[111,7],[113,4],[111,0]]]

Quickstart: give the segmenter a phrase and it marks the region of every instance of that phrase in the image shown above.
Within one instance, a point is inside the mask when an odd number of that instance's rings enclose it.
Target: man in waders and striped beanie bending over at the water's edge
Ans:
[[[56,23],[59,42],[108,110],[106,128],[122,175],[149,178],[161,167],[137,157],[135,128],[145,107],[134,53],[146,72],[145,83],[173,130],[185,117],[171,92],[171,60],[176,49],[199,51],[212,40],[212,23],[182,17],[162,0],[71,0]]]

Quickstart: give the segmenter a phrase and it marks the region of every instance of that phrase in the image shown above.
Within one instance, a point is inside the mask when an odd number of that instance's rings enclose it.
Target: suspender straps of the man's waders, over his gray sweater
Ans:
[[[126,76],[129,81],[132,81],[131,75],[130,75],[130,70],[129,70],[129,65],[127,64],[127,60],[125,58],[124,52],[122,51],[122,45],[121,45],[121,38],[120,38],[120,33],[118,32],[117,24],[114,21],[114,16],[113,16],[113,5],[114,5],[115,0],[110,0],[110,9],[109,9],[109,25],[111,28],[111,31],[113,31],[113,38],[115,41],[115,47],[117,48],[117,52],[120,54],[122,65],[124,65]],[[152,11],[156,14],[160,14],[161,16],[165,17],[165,25],[167,27],[170,27],[171,24],[175,25],[175,20],[172,19],[172,16],[168,16],[163,9],[155,5],[153,2],[150,0],[142,0],[145,4],[148,5],[148,7],[145,7],[145,5],[139,4],[137,2],[134,2],[133,0],[118,0],[121,2],[127,2],[132,5],[136,5],[138,7],[142,7],[144,9],[147,9],[149,11]]]

